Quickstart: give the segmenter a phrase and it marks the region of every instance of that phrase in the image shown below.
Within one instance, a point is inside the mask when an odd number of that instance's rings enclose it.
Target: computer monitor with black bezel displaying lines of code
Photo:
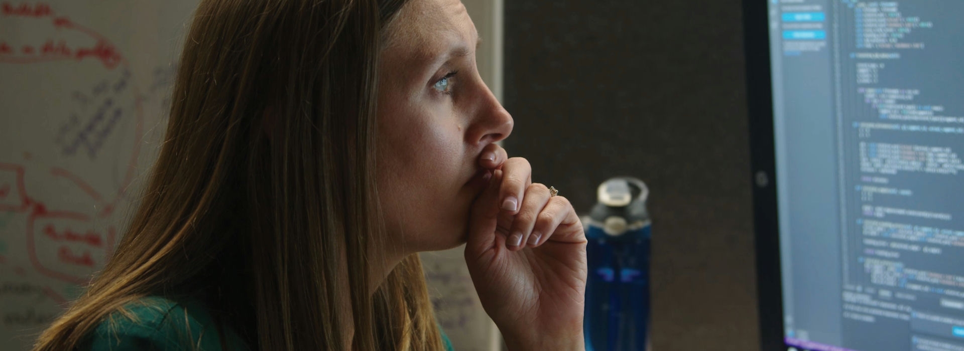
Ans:
[[[964,350],[964,1],[744,22],[763,351]]]

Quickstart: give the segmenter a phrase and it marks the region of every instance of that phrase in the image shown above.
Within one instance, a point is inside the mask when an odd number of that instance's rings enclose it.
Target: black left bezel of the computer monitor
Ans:
[[[768,1],[743,1],[747,113],[762,351],[786,350],[777,212]]]

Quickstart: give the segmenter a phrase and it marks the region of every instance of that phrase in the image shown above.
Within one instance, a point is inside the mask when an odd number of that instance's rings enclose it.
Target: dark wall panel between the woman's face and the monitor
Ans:
[[[740,4],[505,1],[505,141],[576,210],[650,186],[653,346],[756,350]]]

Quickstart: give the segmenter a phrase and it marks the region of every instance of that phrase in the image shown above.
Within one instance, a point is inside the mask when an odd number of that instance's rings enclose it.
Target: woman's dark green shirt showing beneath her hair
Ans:
[[[222,350],[214,319],[196,301],[184,303],[150,296],[126,306],[131,318],[112,313],[91,333],[81,350],[90,351],[188,351]],[[230,328],[224,328],[224,350],[251,351]],[[445,350],[452,344],[442,333]],[[196,346],[192,346],[196,345]]]

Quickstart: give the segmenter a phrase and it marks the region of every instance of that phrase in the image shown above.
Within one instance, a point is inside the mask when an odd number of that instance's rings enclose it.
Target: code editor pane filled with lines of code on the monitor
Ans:
[[[964,350],[964,2],[835,6],[844,344]]]

